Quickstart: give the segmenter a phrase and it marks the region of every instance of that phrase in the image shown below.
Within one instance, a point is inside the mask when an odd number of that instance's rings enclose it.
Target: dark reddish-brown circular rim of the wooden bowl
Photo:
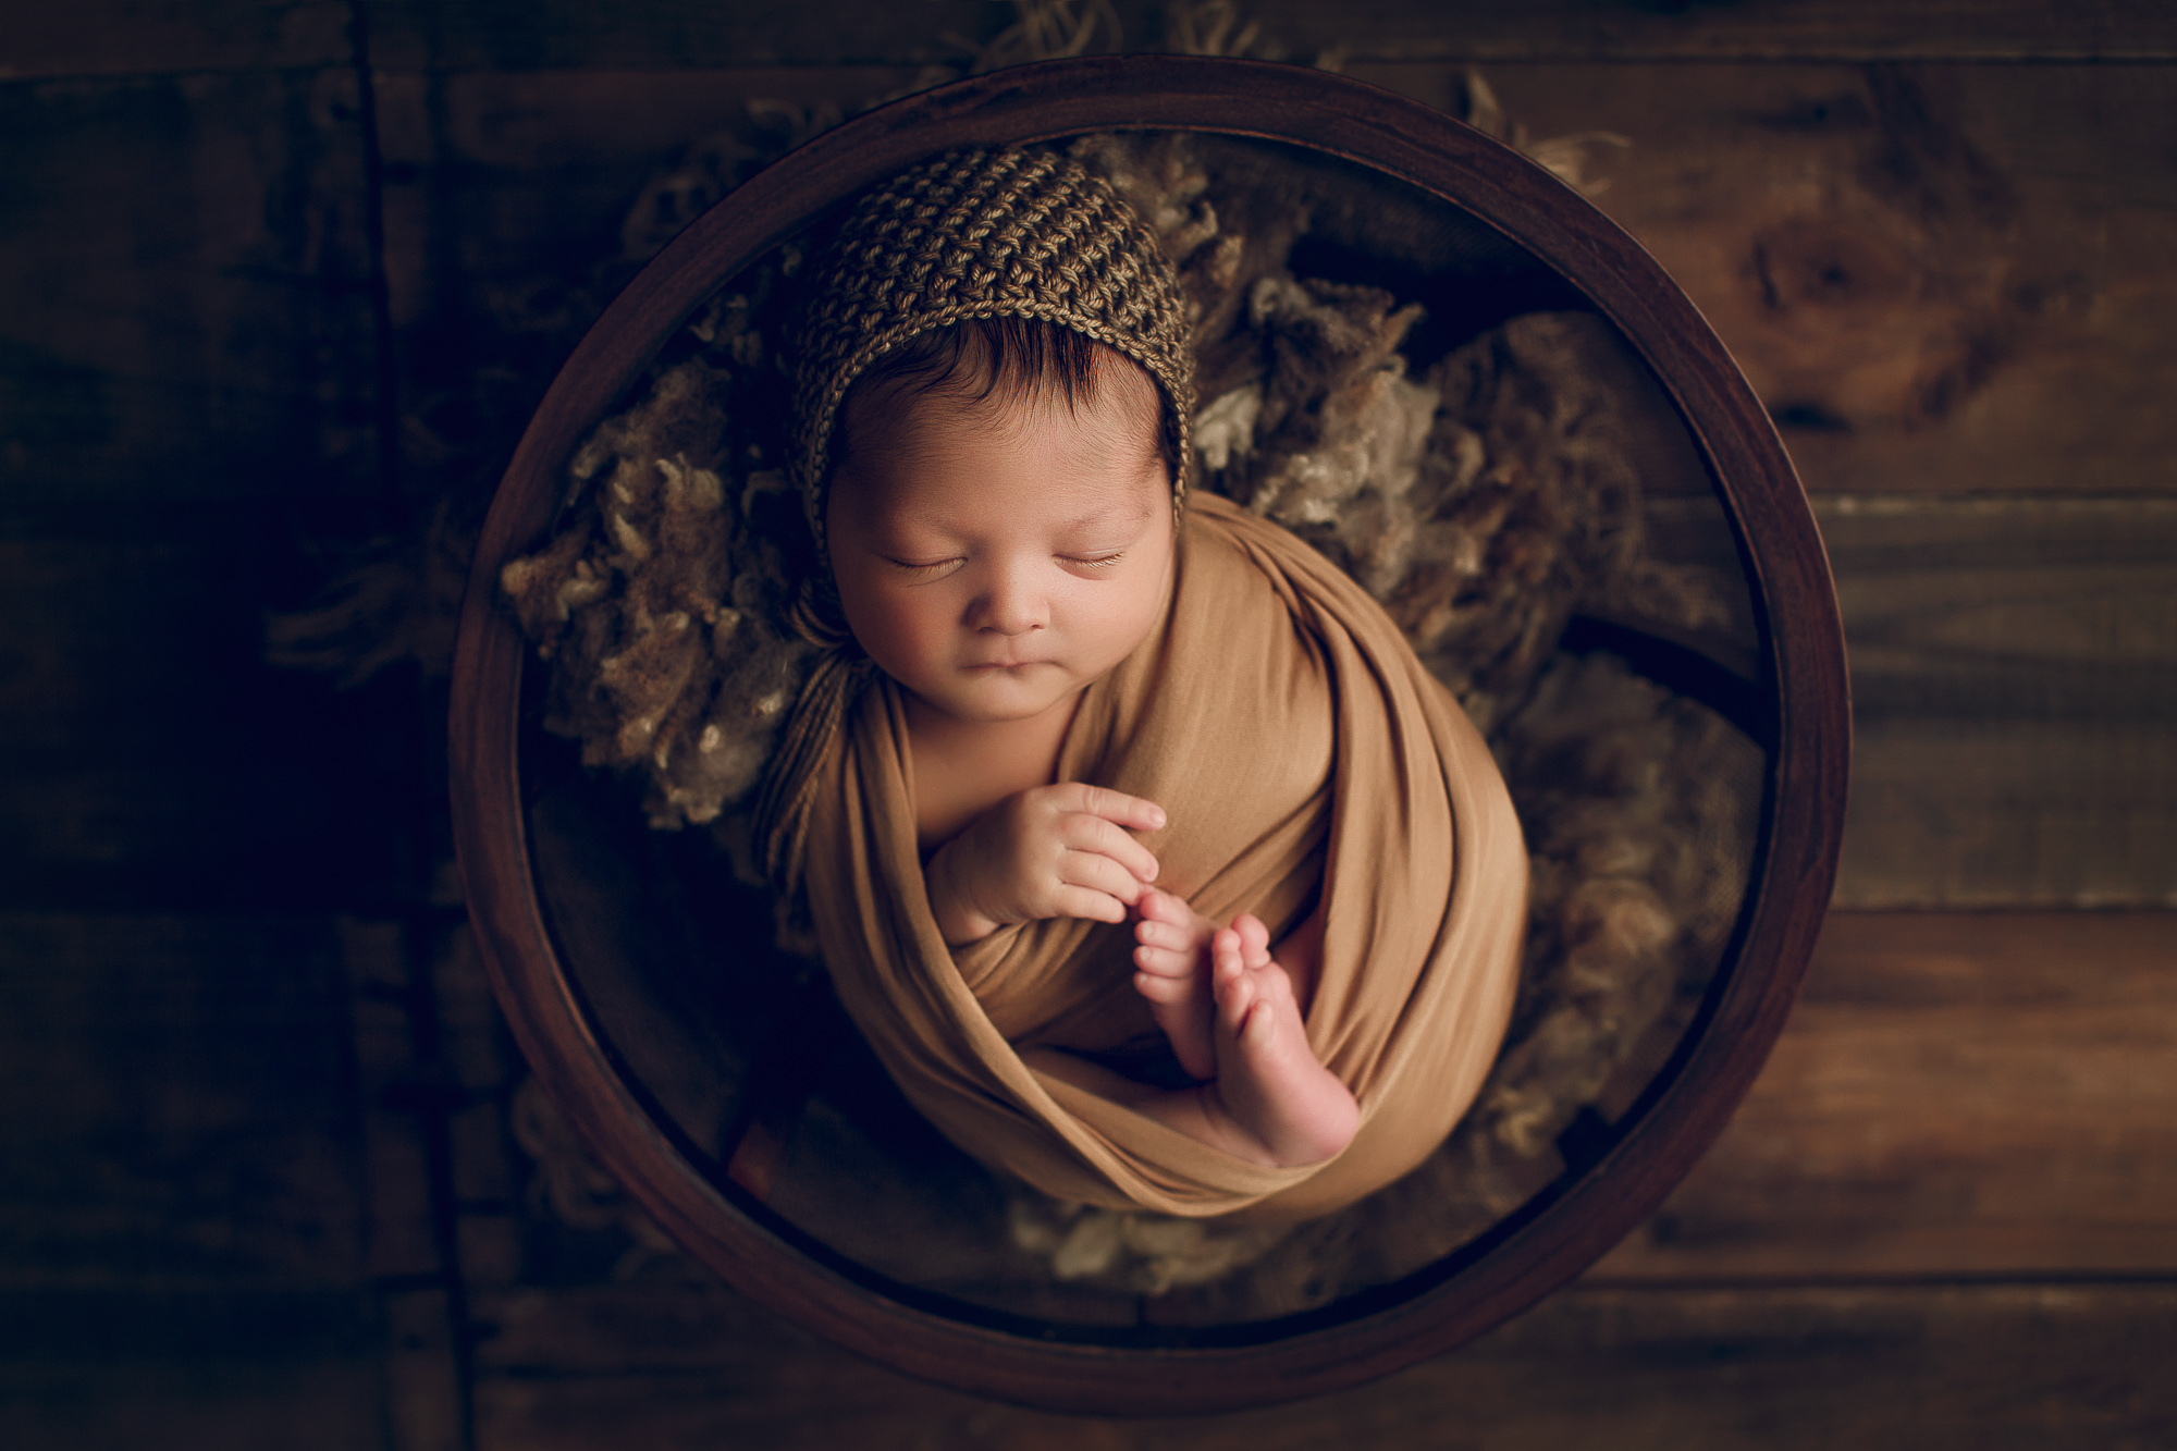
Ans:
[[[991,1314],[914,1292],[797,1233],[721,1172],[718,1150],[675,1126],[660,1107],[666,1089],[601,1028],[596,989],[568,970],[566,919],[583,909],[540,891],[522,765],[527,647],[499,601],[501,566],[553,525],[575,447],[747,264],[923,157],[1134,129],[1252,137],[1387,176],[1461,224],[1480,222],[1607,318],[1676,410],[1735,536],[1757,641],[1735,717],[1768,760],[1737,930],[1674,1057],[1607,1142],[1395,1283],[1300,1316],[1184,1331]],[[1456,1346],[1657,1209],[1722,1131],[1798,991],[1835,874],[1848,734],[1844,641],[1805,495],[1722,342],[1648,253],[1539,166],[1417,102],[1317,70],[1112,57],[995,72],[847,122],[699,218],[612,303],[538,407],[477,547],[453,673],[453,821],[522,1052],[594,1155],[692,1255],[910,1375],[1065,1410],[1200,1412],[1335,1390]]]

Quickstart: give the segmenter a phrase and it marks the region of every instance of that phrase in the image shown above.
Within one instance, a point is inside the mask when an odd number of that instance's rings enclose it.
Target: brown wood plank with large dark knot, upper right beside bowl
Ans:
[[[1452,68],[1354,65],[1432,105]],[[1811,490],[2168,492],[2155,65],[1491,65],[1715,325]]]

